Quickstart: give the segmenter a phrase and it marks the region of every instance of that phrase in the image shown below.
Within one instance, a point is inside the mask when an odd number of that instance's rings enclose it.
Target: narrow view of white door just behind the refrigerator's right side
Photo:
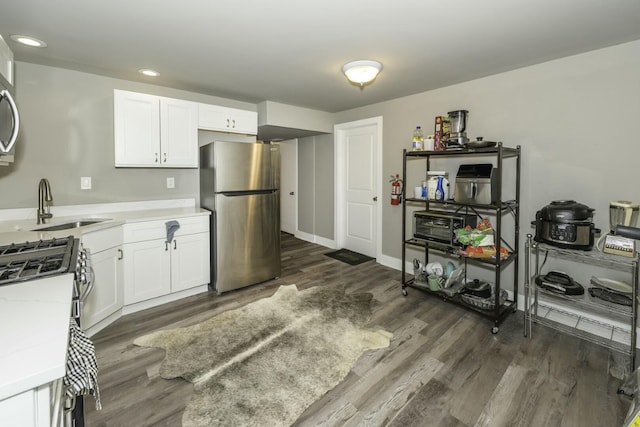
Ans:
[[[280,229],[295,235],[298,231],[298,140],[280,145]]]

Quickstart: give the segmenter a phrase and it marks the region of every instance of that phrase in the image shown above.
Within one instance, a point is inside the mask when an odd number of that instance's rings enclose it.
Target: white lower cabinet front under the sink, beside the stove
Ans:
[[[122,309],[122,227],[87,233],[82,245],[89,251],[93,289],[82,306],[81,324],[89,329]],[[106,326],[106,325],[105,325]]]

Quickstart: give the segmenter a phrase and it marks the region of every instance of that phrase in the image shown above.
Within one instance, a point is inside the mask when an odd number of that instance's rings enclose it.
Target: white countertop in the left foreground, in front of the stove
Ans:
[[[65,374],[73,274],[0,286],[0,400]]]

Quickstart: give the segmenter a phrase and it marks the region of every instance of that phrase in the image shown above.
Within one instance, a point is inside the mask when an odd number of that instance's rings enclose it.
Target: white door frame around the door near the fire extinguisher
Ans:
[[[382,179],[382,116],[371,117],[368,119],[356,120],[353,122],[346,122],[334,125],[333,134],[334,134],[334,162],[333,168],[335,171],[335,182],[334,182],[334,224],[335,224],[335,232],[334,232],[334,240],[336,242],[337,248],[342,248],[344,246],[344,242],[346,240],[346,212],[343,209],[346,199],[346,158],[344,155],[345,151],[345,132],[357,129],[365,126],[375,126],[376,127],[376,143],[377,147],[375,147],[376,154],[378,157],[378,164],[372,165],[373,170],[375,170],[377,179],[375,189],[376,197],[378,197],[378,201],[376,203],[376,260],[380,259],[382,255],[382,189],[383,187],[383,179]]]

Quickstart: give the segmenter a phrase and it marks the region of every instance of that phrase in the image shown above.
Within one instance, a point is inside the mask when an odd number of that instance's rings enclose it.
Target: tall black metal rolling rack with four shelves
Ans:
[[[420,291],[442,298],[445,302],[453,303],[462,307],[465,307],[471,311],[478,313],[480,316],[487,318],[493,322],[491,332],[498,333],[500,324],[512,313],[517,310],[517,295],[518,295],[518,247],[519,247],[519,218],[520,218],[520,146],[516,148],[504,147],[502,143],[497,143],[495,147],[483,147],[483,148],[471,148],[459,151],[445,150],[445,151],[403,151],[403,181],[407,182],[407,163],[410,161],[422,160],[426,162],[425,171],[426,176],[429,176],[431,160],[432,158],[447,158],[448,160],[463,160],[466,158],[484,158],[495,161],[494,173],[495,173],[495,200],[490,204],[475,204],[475,203],[462,203],[454,200],[429,200],[426,198],[415,197],[403,197],[402,199],[402,294],[407,295],[407,288],[419,289]],[[515,182],[513,188],[513,194],[515,197],[508,201],[503,200],[503,172],[505,160],[515,162],[514,171],[515,176],[512,179]],[[496,253],[500,254],[501,248],[509,250],[508,256],[502,258],[496,256],[494,258],[474,258],[458,254],[460,247],[453,242],[442,243],[432,241],[429,239],[416,238],[414,236],[407,237],[408,229],[408,209],[410,206],[424,206],[426,212],[437,208],[436,211],[449,211],[454,213],[460,213],[464,215],[473,215],[475,217],[482,217],[484,215],[492,215],[495,217],[493,229],[495,232],[495,246]],[[513,216],[513,236],[511,241],[507,242],[503,233],[503,216],[511,214]],[[429,262],[429,253],[440,253],[446,256],[458,257],[464,267],[465,280],[469,266],[486,267],[493,269],[495,277],[493,296],[495,299],[491,304],[492,307],[486,309],[485,307],[479,307],[474,304],[469,304],[465,301],[460,294],[448,294],[440,291],[432,291],[428,286],[422,284],[416,280],[415,276],[408,274],[406,271],[407,261],[407,248],[420,248],[424,250],[425,264]],[[513,299],[501,298],[501,275],[503,270],[508,267],[513,267]],[[493,299],[492,296],[492,299]]]

